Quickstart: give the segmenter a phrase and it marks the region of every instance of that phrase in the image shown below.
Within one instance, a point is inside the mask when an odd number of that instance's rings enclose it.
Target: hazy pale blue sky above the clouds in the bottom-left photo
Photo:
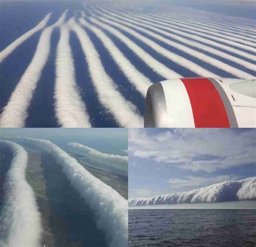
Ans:
[[[128,131],[125,128],[1,128],[0,139],[30,137],[52,141],[61,148],[78,142],[99,152],[126,155]]]

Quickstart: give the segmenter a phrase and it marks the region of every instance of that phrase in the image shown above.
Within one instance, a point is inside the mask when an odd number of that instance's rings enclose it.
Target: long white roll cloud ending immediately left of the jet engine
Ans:
[[[70,28],[76,33],[89,67],[90,77],[96,89],[100,103],[113,114],[117,124],[122,127],[141,127],[143,118],[137,113],[137,107],[117,90],[114,81],[104,70],[98,51],[86,31],[75,22],[69,22]],[[120,110],[121,109],[121,110]]]

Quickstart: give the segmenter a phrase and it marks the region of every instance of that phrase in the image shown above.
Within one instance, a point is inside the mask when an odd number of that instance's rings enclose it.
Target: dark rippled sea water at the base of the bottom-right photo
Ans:
[[[256,210],[130,209],[130,246],[255,246]]]

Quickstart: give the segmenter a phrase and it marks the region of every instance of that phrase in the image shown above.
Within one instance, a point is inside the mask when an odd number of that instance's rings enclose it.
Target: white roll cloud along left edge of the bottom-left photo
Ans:
[[[28,153],[23,147],[11,141],[0,141],[0,144],[12,152],[12,161],[4,181],[0,246],[41,246],[41,216],[35,193],[26,181]]]

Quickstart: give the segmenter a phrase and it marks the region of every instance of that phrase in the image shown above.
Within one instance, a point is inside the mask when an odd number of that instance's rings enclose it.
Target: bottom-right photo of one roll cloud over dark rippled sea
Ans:
[[[129,129],[130,246],[254,246],[255,129]]]

